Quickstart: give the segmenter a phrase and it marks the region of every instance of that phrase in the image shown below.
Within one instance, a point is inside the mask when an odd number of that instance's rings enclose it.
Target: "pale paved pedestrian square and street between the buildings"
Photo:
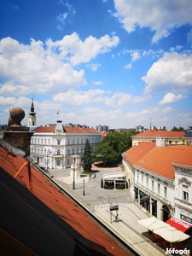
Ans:
[[[96,178],[80,177],[75,180],[73,189],[73,177],[69,177],[70,170],[50,170],[56,183],[73,195],[79,202],[87,207],[96,218],[106,224],[110,230],[119,236],[129,246],[134,247],[136,252],[143,256],[162,256],[166,250],[158,247],[148,239],[148,230],[141,224],[139,219],[148,218],[129,193],[129,189],[102,189],[101,178],[103,173],[117,172],[111,168],[96,173]],[[119,172],[119,171],[118,171]],[[115,221],[116,211],[109,211],[111,205],[118,205],[118,221]]]

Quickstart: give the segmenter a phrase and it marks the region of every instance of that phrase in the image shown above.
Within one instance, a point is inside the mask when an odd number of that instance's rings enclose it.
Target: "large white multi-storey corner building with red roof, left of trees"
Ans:
[[[39,126],[31,141],[31,159],[45,169],[68,168],[72,165],[72,155],[83,154],[86,140],[94,150],[101,137],[93,128],[67,127],[61,121],[55,126]]]

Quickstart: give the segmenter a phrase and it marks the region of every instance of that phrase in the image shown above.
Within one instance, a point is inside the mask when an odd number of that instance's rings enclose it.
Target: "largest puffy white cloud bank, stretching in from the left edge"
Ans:
[[[12,93],[11,96],[19,90],[21,95],[34,91],[48,94],[85,85],[84,70],[77,71],[73,66],[88,62],[117,44],[118,37],[89,37],[83,42],[76,33],[56,42],[49,39],[45,44],[32,39],[31,44],[25,45],[3,38],[0,41],[2,93]]]

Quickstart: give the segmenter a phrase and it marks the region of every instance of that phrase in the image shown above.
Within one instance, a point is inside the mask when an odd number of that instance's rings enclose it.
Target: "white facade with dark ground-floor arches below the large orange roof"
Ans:
[[[174,183],[135,166],[135,192],[138,204],[161,220],[174,214]]]

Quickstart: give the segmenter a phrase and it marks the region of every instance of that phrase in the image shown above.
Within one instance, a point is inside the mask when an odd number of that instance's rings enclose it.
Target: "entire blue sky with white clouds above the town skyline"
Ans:
[[[33,98],[38,125],[187,129],[191,14],[191,0],[2,0],[0,124],[19,107],[26,125]]]

